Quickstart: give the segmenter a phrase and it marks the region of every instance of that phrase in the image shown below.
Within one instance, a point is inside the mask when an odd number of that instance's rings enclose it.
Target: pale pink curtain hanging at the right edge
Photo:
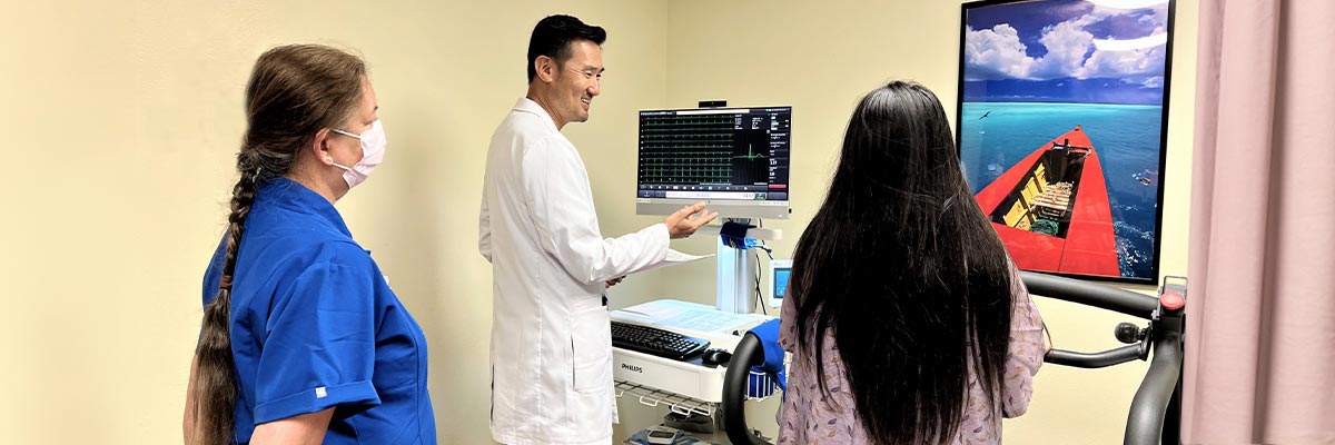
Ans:
[[[1200,0],[1183,442],[1335,444],[1335,1]]]

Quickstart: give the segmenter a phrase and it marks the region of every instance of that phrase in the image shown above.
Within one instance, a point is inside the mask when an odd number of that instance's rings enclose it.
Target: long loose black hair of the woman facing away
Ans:
[[[825,202],[793,254],[798,350],[833,333],[868,437],[955,438],[969,369],[996,398],[1011,326],[1011,266],[973,202],[940,100],[892,82],[862,98]],[[1000,401],[992,400],[992,406]]]

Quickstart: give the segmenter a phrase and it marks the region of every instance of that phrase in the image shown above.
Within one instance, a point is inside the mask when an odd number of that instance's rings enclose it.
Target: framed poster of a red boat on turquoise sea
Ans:
[[[1172,11],[963,5],[960,159],[1020,269],[1157,282]]]

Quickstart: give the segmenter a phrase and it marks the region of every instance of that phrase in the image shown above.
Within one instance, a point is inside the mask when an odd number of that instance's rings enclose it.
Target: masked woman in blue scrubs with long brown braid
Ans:
[[[426,338],[334,202],[384,156],[356,56],[270,49],[204,275],[186,444],[435,444]]]

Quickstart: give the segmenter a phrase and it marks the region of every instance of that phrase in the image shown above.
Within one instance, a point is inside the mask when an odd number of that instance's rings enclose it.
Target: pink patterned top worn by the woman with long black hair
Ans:
[[[969,401],[964,410],[957,436],[951,444],[1000,444],[1001,417],[1017,417],[1029,408],[1033,393],[1033,376],[1043,365],[1047,346],[1043,341],[1043,318],[1029,299],[1029,293],[1013,277],[1013,305],[1011,314],[1011,350],[1007,351],[1005,380],[1003,382],[1001,408],[991,406],[983,394],[972,369],[969,370]],[[797,307],[792,298],[784,301],[778,342],[785,350],[796,351],[797,325],[793,319]],[[780,422],[780,445],[818,444],[869,444],[866,432],[857,417],[857,404],[844,378],[844,361],[834,346],[832,331],[825,333],[822,343],[825,358],[825,385],[830,398],[824,401],[814,373],[814,357],[793,354],[788,370],[788,393],[785,393],[782,420]]]

